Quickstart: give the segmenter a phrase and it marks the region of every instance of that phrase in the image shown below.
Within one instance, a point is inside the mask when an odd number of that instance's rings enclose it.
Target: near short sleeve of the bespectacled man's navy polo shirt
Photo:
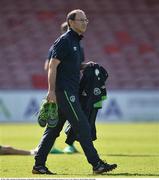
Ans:
[[[67,56],[68,52],[68,45],[67,39],[59,38],[55,41],[51,58],[59,59],[60,61],[64,61],[65,57]]]

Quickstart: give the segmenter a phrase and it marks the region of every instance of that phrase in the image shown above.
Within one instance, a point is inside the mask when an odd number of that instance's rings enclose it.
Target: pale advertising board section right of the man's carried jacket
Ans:
[[[112,91],[98,113],[102,121],[159,121],[158,91]]]

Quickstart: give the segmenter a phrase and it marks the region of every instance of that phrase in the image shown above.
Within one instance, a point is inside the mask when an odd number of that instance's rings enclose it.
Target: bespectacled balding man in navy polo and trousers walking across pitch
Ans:
[[[117,167],[116,164],[107,164],[99,158],[92,143],[90,125],[79,103],[80,69],[93,64],[82,63],[84,56],[80,46],[88,19],[82,10],[77,9],[67,15],[67,23],[69,31],[55,41],[48,71],[47,99],[58,104],[59,121],[56,127],[48,127],[43,135],[35,156],[33,174],[53,174],[45,167],[45,162],[66,119],[70,122],[87,161],[92,165],[93,173],[101,174]]]

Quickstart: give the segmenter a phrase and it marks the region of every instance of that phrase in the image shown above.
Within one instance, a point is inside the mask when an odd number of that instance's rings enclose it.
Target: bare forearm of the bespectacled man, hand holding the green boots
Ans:
[[[56,102],[55,96],[55,83],[56,83],[56,71],[60,61],[58,59],[51,59],[48,69],[48,94],[47,100],[49,102]]]

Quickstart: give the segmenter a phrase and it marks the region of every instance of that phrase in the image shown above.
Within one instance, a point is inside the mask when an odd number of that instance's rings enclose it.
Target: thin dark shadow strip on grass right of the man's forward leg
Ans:
[[[159,157],[159,154],[101,154],[105,156],[123,156],[123,157]]]

